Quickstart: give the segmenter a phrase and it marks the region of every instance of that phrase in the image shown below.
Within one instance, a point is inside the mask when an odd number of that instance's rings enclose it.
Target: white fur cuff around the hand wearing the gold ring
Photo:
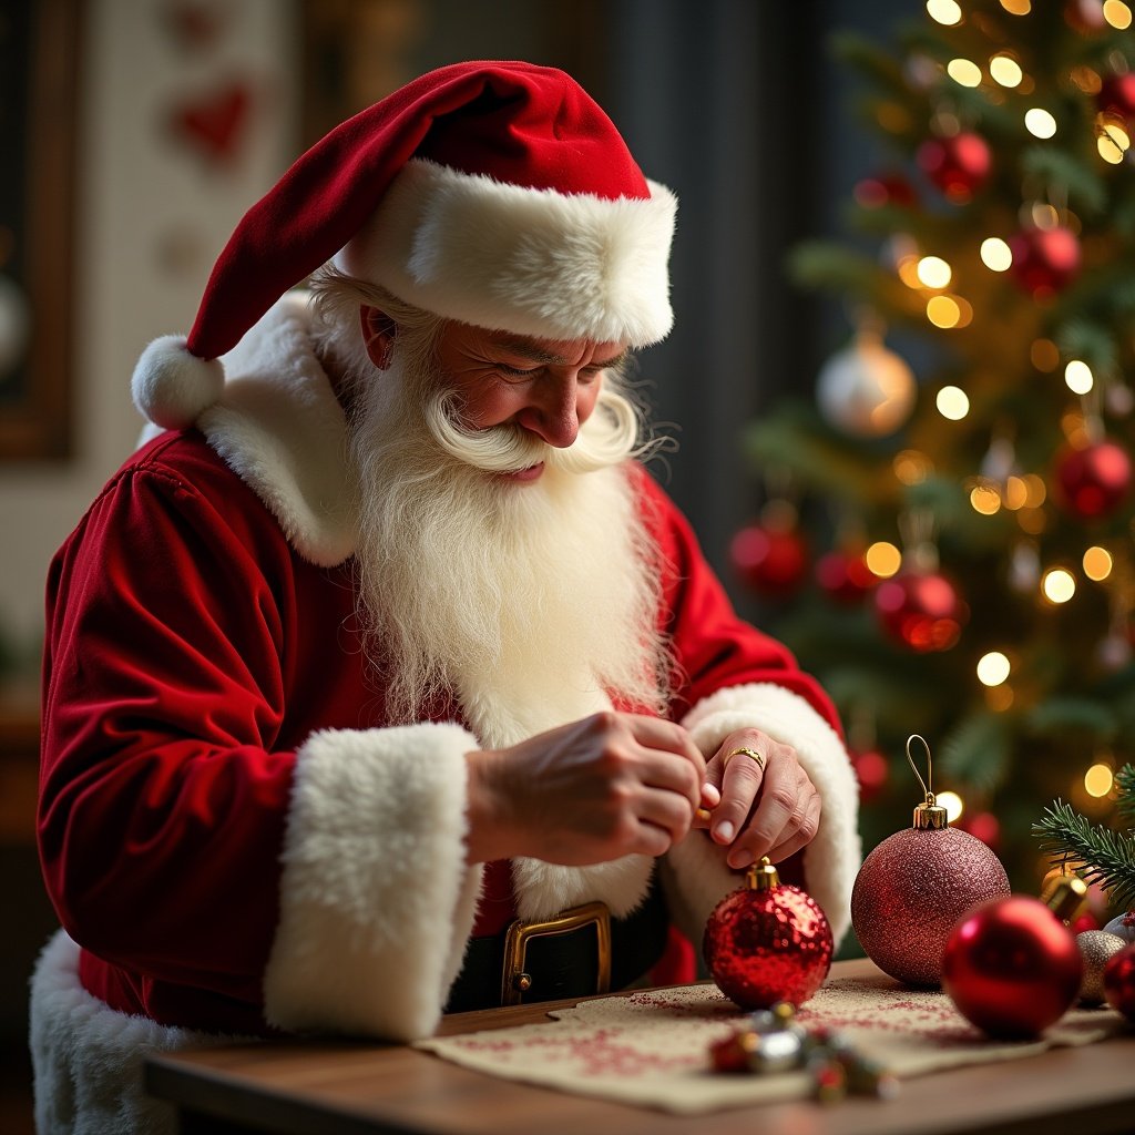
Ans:
[[[796,749],[823,804],[819,831],[804,850],[806,886],[839,943],[851,923],[851,886],[861,856],[859,790],[839,734],[798,693],[766,682],[717,690],[699,701],[682,724],[707,757],[739,729],[759,729]],[[667,860],[665,877],[674,892],[679,925],[699,945],[714,906],[741,884],[742,876],[726,866],[724,850],[700,831],[672,849]]]

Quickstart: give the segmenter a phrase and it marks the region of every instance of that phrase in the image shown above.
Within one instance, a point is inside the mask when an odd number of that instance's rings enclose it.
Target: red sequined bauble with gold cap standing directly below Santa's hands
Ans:
[[[781,883],[768,858],[726,894],[706,923],[701,955],[717,987],[742,1009],[799,1008],[832,965],[832,928],[816,900]]]

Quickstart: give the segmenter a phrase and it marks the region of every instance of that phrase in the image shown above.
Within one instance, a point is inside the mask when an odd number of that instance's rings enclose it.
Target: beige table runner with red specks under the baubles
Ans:
[[[712,984],[585,1001],[549,1017],[417,1046],[493,1076],[683,1115],[799,1099],[812,1091],[804,1071],[712,1070],[711,1045],[747,1018]],[[1088,1044],[1123,1028],[1110,1009],[1074,1008],[1037,1040],[993,1041],[961,1017],[945,993],[906,989],[884,976],[831,978],[797,1020],[838,1031],[900,1079]]]

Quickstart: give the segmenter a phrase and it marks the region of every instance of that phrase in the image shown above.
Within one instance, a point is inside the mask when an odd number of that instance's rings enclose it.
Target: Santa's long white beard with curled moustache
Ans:
[[[502,747],[612,699],[662,708],[657,550],[628,477],[625,421],[613,427],[604,409],[617,396],[604,392],[577,444],[557,451],[512,427],[452,427],[437,377],[412,362],[355,390],[359,600],[390,718],[455,695],[481,745]],[[541,460],[535,484],[486,471]]]

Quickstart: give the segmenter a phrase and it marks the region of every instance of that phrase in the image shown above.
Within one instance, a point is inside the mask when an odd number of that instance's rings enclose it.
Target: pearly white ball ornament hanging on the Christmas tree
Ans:
[[[880,336],[860,331],[850,346],[824,363],[816,402],[824,418],[855,437],[886,437],[914,410],[915,377]]]

